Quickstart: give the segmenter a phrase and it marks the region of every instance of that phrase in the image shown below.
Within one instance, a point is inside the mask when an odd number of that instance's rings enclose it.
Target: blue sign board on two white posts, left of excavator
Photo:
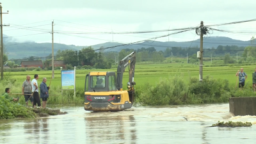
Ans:
[[[74,90],[74,99],[76,98],[76,67],[74,70],[61,68],[61,95],[63,90]]]

